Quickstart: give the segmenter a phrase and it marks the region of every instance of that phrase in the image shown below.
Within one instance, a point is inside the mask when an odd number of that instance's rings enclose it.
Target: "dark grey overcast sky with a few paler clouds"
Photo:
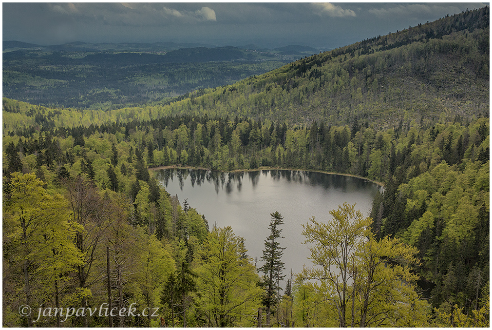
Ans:
[[[3,40],[337,48],[488,3],[2,3]]]

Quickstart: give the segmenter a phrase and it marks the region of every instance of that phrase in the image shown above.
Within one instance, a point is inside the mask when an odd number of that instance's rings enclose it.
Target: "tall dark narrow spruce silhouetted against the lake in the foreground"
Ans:
[[[264,261],[265,264],[260,267],[260,270],[265,274],[263,276],[263,286],[266,292],[263,303],[267,307],[267,327],[270,326],[272,305],[277,303],[276,293],[277,290],[280,290],[278,283],[285,277],[285,275],[282,275],[282,271],[285,269],[284,263],[281,262],[285,248],[280,247],[278,243],[279,238],[284,238],[280,236],[282,230],[279,228],[280,225],[283,225],[283,217],[278,211],[271,213],[270,216],[272,217],[269,226],[270,235],[265,240],[265,250],[263,250],[263,257],[261,258],[261,261]]]

